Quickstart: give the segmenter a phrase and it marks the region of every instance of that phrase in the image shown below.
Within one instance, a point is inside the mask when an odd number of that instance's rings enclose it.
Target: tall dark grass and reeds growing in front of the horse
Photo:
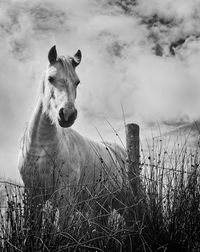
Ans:
[[[199,151],[152,139],[140,148],[137,194],[134,181],[114,192],[105,181],[98,193],[70,187],[62,212],[52,201],[36,206],[23,187],[1,182],[0,250],[200,251]]]

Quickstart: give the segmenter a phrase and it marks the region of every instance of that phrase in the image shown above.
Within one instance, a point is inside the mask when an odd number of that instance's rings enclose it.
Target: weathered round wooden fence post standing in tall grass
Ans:
[[[140,142],[139,126],[137,124],[131,123],[126,125],[126,148],[128,155],[128,178],[134,195],[138,198],[140,186]]]

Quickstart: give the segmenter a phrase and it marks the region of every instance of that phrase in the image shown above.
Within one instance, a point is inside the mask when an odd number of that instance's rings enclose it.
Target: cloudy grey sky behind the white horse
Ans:
[[[0,176],[17,155],[47,53],[81,49],[79,117],[98,139],[127,122],[176,127],[200,118],[200,0],[0,0]],[[106,118],[106,119],[105,119]]]

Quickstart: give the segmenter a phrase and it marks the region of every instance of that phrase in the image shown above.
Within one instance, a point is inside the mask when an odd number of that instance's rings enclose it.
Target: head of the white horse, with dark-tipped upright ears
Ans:
[[[73,57],[57,56],[53,46],[48,53],[49,64],[43,81],[43,109],[53,123],[67,128],[77,118],[75,99],[80,80],[75,68],[81,61],[81,51]]]

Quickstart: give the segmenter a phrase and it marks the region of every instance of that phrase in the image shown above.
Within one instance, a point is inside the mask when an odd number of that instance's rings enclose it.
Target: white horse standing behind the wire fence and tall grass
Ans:
[[[48,53],[37,106],[24,135],[19,170],[25,186],[35,196],[47,200],[69,185],[123,185],[125,151],[116,144],[96,143],[71,128],[77,117],[75,99],[79,78],[75,72],[81,61]]]

